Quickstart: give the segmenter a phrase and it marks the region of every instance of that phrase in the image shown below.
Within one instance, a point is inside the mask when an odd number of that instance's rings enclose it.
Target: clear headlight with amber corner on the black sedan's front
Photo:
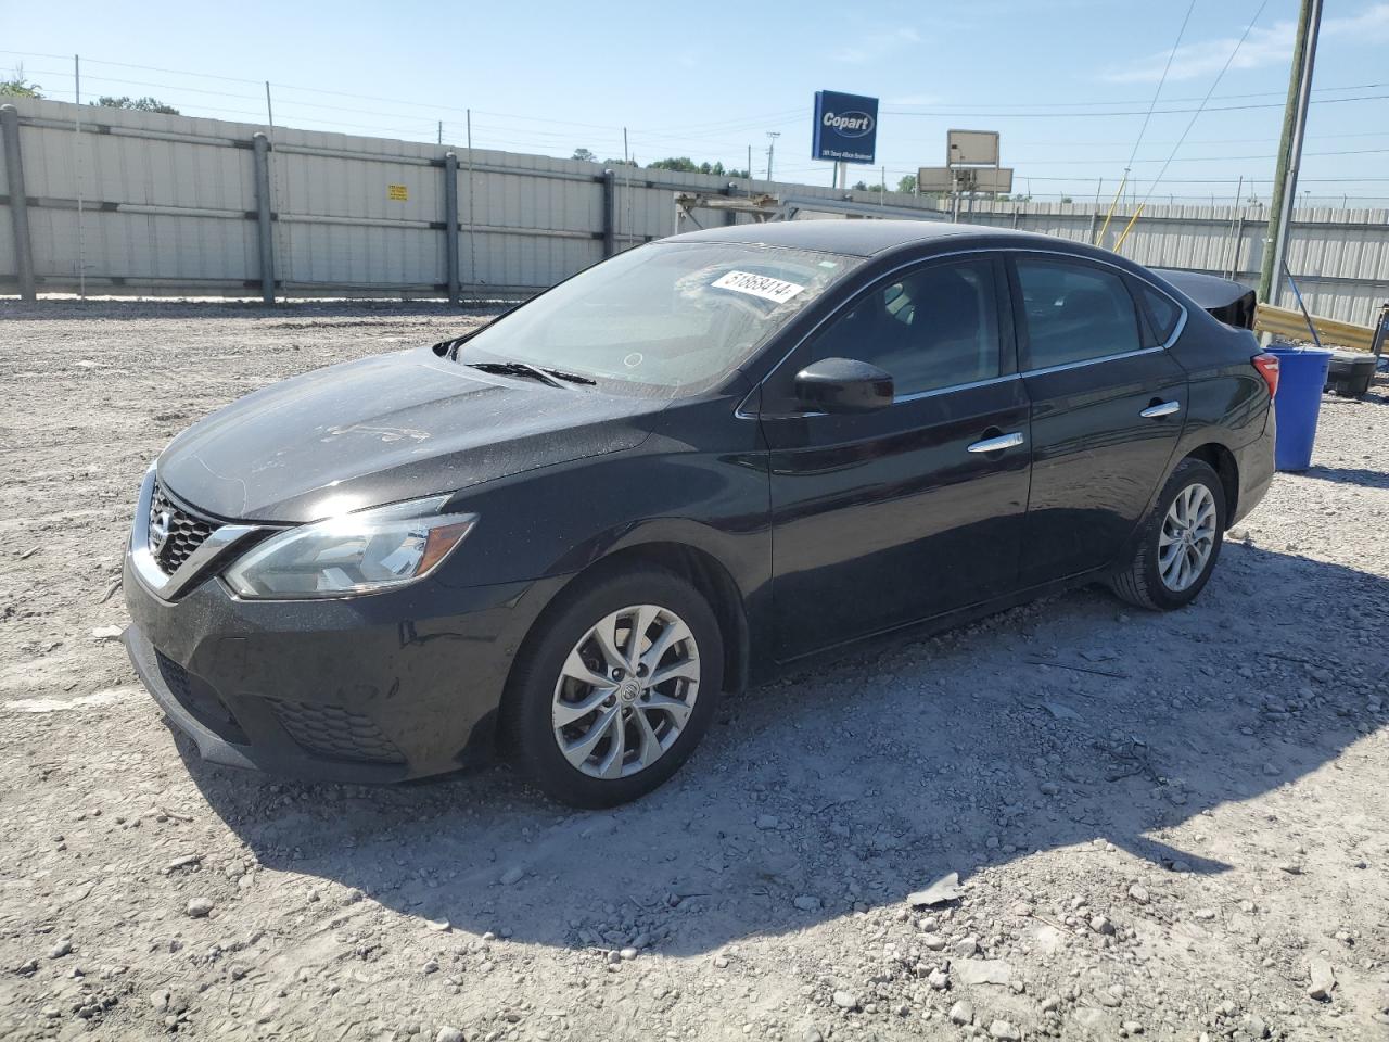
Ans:
[[[464,540],[476,514],[440,514],[447,496],[331,517],[271,536],[226,571],[243,597],[344,597],[424,578]]]

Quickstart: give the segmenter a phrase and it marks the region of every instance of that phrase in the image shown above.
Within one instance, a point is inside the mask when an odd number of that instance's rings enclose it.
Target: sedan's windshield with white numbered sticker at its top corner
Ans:
[[[475,333],[458,361],[526,363],[635,393],[694,393],[858,263],[750,243],[639,246]]]

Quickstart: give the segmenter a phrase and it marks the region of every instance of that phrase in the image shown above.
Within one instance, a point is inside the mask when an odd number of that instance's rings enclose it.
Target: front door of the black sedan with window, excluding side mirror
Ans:
[[[1008,590],[1028,496],[1028,402],[1003,263],[936,261],[858,295],[763,388],[778,657]],[[868,414],[807,414],[813,361],[892,374]],[[996,447],[990,447],[996,446]]]

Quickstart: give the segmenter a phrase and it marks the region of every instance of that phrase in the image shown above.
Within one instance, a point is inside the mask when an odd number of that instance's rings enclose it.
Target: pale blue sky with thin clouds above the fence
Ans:
[[[1267,201],[1296,18],[1296,0],[146,0],[61,14],[0,0],[0,74],[22,65],[72,100],[79,54],[83,100],[151,94],[240,122],[267,118],[269,81],[278,125],[436,140],[442,121],[456,146],[471,110],[475,147],[546,156],[619,158],[625,128],[643,164],[742,168],[751,147],[756,176],[774,140],[776,179],[818,185],[832,167],[810,157],[814,92],[843,90],[881,99],[878,165],[851,181],[943,165],[960,128],[999,131],[1014,189],[1036,199],[1107,200],[1131,167],[1135,200],[1228,200],[1243,178]],[[1386,54],[1389,3],[1325,0],[1303,199],[1389,199]]]

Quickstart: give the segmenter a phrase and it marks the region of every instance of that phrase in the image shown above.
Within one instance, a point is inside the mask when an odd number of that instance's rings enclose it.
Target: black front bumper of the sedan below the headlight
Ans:
[[[207,760],[401,781],[490,752],[507,674],[544,586],[426,578],[354,599],[253,602],[214,575],[164,600],[128,550],[125,646]]]

